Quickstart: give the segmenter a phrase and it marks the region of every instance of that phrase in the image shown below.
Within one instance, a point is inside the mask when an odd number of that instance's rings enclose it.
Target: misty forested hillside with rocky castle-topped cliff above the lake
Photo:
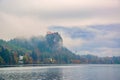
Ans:
[[[21,60],[22,57],[22,60]],[[0,64],[120,63],[120,57],[79,56],[63,46],[58,32],[30,39],[0,40]]]

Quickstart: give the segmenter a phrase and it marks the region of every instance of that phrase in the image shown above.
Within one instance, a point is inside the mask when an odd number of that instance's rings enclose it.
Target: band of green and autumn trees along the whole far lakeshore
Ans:
[[[23,64],[120,64],[120,57],[97,57],[93,55],[64,55],[39,53],[23,53],[11,51],[0,46],[0,65],[20,64],[19,57],[23,56]]]

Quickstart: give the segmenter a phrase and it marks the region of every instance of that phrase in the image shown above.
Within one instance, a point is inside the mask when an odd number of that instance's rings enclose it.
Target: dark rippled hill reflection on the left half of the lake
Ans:
[[[62,80],[62,69],[5,70],[0,72],[0,80]]]

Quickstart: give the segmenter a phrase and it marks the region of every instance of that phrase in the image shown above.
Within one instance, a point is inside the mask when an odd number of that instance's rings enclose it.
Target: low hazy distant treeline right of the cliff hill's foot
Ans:
[[[98,57],[94,55],[82,55],[80,56],[80,61],[87,64],[120,64],[120,56]]]

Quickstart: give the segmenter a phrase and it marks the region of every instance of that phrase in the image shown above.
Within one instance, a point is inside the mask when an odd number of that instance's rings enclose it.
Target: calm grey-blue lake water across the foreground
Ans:
[[[0,80],[120,80],[120,65],[50,65],[0,68]]]

